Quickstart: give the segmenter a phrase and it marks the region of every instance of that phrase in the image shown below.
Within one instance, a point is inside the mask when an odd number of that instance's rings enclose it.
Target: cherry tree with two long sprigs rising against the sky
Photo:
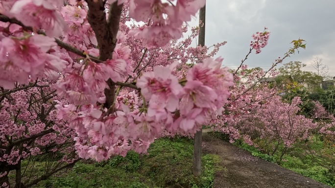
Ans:
[[[209,125],[213,125],[215,131],[228,134],[231,142],[239,139],[239,129],[237,126],[239,121],[244,115],[251,113],[251,109],[257,108],[259,104],[263,104],[268,99],[278,96],[282,93],[287,92],[287,89],[282,87],[272,87],[267,83],[262,83],[263,78],[275,77],[279,74],[275,70],[275,67],[282,63],[287,57],[299,51],[300,48],[306,48],[306,44],[303,44],[304,40],[294,40],[293,47],[284,54],[282,58],[278,58],[272,63],[272,66],[264,71],[263,69],[251,69],[247,70],[245,61],[249,55],[255,51],[256,54],[260,53],[261,48],[265,47],[268,42],[269,32],[264,29],[263,32],[257,32],[252,35],[254,41],[250,43],[250,49],[247,55],[239,67],[235,70],[230,70],[234,76],[235,85],[230,87],[231,95],[227,99],[227,103],[224,104],[225,112],[218,116],[216,119],[212,119]],[[246,74],[248,72],[248,74]]]

